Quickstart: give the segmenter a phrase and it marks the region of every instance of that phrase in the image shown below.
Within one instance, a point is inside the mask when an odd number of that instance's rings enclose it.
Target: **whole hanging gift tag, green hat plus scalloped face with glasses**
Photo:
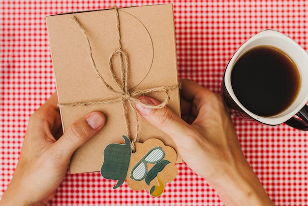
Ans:
[[[175,165],[177,153],[159,139],[136,142],[136,152],[131,153],[130,141],[123,136],[125,144],[109,144],[104,150],[101,174],[106,179],[119,180],[114,189],[124,182],[135,191],[146,190],[152,196],[160,196],[165,184],[178,174]],[[129,143],[128,143],[129,141]],[[130,154],[128,154],[130,150]]]

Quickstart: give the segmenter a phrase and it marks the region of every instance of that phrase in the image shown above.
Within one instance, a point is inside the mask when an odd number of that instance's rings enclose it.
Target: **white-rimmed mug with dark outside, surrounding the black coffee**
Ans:
[[[296,99],[281,113],[274,116],[259,116],[249,111],[234,94],[231,84],[231,72],[237,61],[250,49],[257,46],[272,46],[284,52],[295,63],[301,78],[301,84]],[[247,68],[249,69],[249,68]],[[222,93],[233,110],[241,116],[267,124],[278,125],[286,123],[296,129],[308,130],[308,54],[293,39],[274,30],[262,31],[248,39],[233,55],[227,65],[222,82]],[[299,118],[295,118],[297,115]]]

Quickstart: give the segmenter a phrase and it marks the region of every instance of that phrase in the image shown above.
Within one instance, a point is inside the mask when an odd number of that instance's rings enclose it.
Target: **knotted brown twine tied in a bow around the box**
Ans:
[[[125,121],[125,126],[126,126],[126,133],[128,134],[127,137],[131,139],[131,148],[132,148],[132,151],[135,152],[136,151],[135,142],[138,142],[138,140],[139,140],[139,137],[138,137],[139,122],[138,122],[137,110],[134,107],[133,103],[141,104],[141,105],[143,105],[147,108],[154,108],[154,109],[163,108],[164,106],[167,105],[167,103],[170,100],[169,92],[173,89],[180,88],[180,85],[161,86],[161,87],[154,87],[154,88],[150,88],[150,89],[135,90],[135,91],[131,91],[130,89],[128,89],[127,81],[128,81],[128,67],[129,67],[129,65],[128,65],[127,55],[125,54],[125,52],[122,49],[118,7],[114,6],[113,10],[115,11],[115,16],[116,16],[118,50],[114,51],[109,57],[109,71],[111,73],[112,79],[117,83],[117,85],[118,85],[118,87],[120,88],[121,91],[115,90],[111,85],[109,85],[104,80],[102,75],[99,73],[99,71],[96,68],[93,56],[92,56],[92,47],[91,47],[88,35],[86,34],[85,30],[80,25],[80,23],[78,22],[77,18],[74,15],[71,17],[71,19],[80,28],[80,30],[82,31],[82,33],[84,34],[84,36],[87,40],[88,50],[89,50],[90,59],[91,59],[91,63],[92,63],[92,69],[94,69],[96,75],[99,77],[99,79],[103,83],[103,85],[105,85],[105,87],[109,91],[119,95],[119,98],[112,99],[112,100],[84,102],[84,103],[59,103],[58,106],[59,107],[72,107],[72,106],[81,106],[81,105],[109,104],[109,103],[121,102],[122,106],[123,106],[123,111],[124,111],[124,121]],[[119,80],[117,78],[117,76],[114,72],[114,68],[113,68],[113,59],[116,55],[120,56],[120,69],[121,69],[121,77],[122,77],[121,80]],[[147,104],[141,102],[138,99],[139,96],[146,95],[146,94],[149,94],[149,93],[152,93],[152,92],[165,92],[167,97],[164,98],[164,100],[158,105],[147,105]],[[131,134],[130,134],[130,130],[129,130],[128,105],[131,107],[131,109],[134,112],[134,119],[135,119],[135,122],[136,122],[135,136],[133,138],[131,138]]]

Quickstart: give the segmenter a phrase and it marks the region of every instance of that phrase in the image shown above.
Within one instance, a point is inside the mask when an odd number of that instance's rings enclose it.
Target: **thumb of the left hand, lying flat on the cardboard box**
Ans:
[[[101,112],[92,112],[72,124],[58,141],[55,147],[65,152],[70,158],[73,152],[81,145],[94,137],[104,126],[106,118]]]

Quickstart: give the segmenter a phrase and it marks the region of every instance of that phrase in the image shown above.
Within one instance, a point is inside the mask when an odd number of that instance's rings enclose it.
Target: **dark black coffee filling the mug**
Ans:
[[[259,116],[273,116],[291,105],[301,82],[290,57],[275,47],[258,46],[236,62],[231,84],[246,109]]]

